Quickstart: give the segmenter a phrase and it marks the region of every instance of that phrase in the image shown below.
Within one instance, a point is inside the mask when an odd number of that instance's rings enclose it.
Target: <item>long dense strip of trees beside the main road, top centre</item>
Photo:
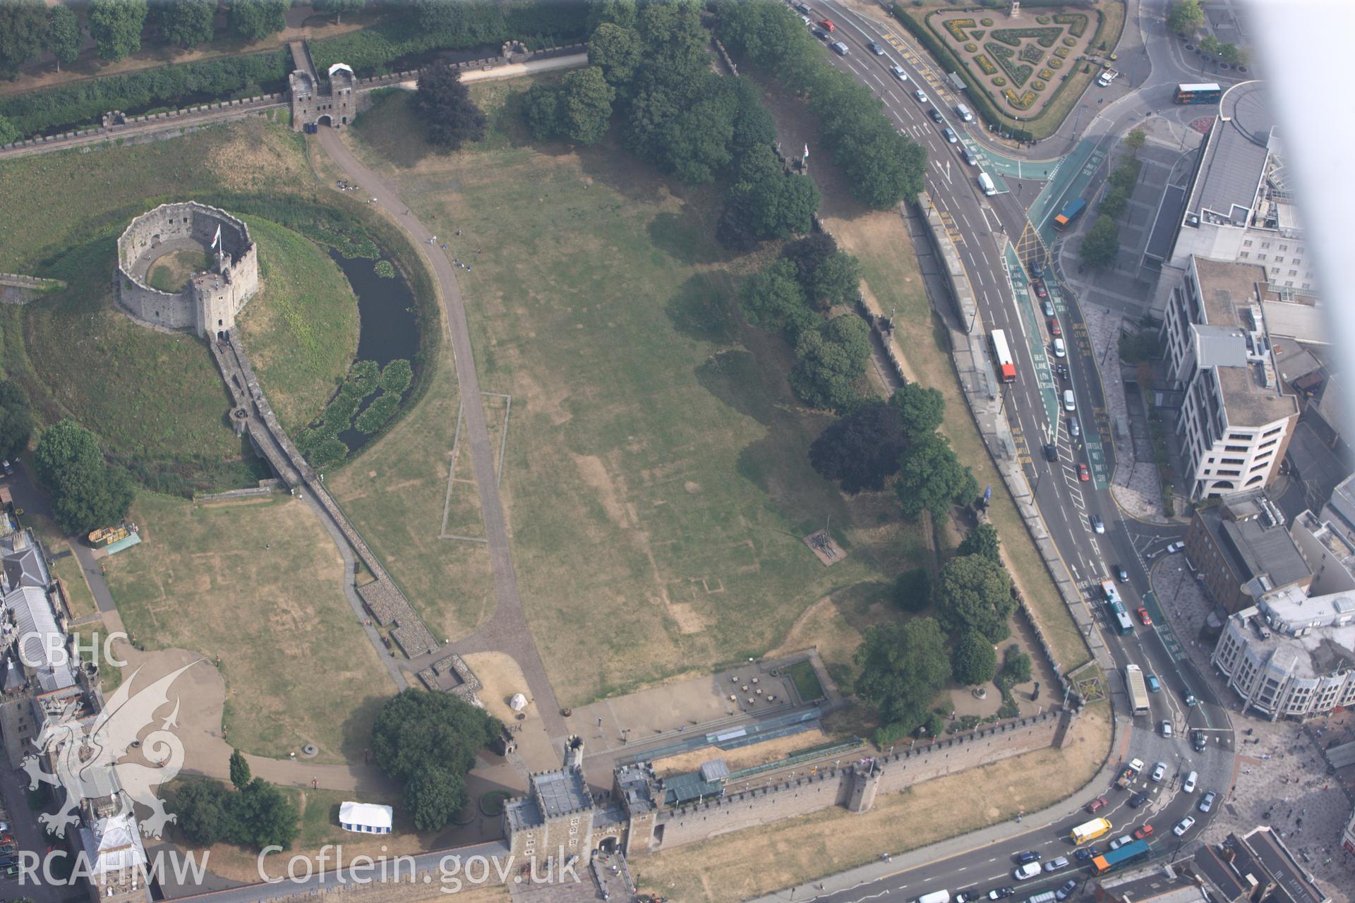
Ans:
[[[925,149],[894,129],[870,88],[828,62],[799,16],[775,0],[715,0],[714,9],[718,34],[732,53],[806,97],[856,200],[886,210],[917,196]]]

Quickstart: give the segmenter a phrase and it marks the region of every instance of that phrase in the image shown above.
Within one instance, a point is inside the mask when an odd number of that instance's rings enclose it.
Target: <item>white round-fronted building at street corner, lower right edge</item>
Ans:
[[[1355,594],[1276,590],[1228,617],[1210,662],[1271,720],[1355,704]]]

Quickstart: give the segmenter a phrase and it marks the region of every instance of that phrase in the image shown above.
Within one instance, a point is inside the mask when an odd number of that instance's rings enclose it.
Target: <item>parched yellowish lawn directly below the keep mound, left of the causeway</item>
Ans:
[[[344,598],[328,531],[299,498],[196,505],[142,493],[142,543],[106,559],[127,632],[221,658],[225,727],[247,753],[363,761],[396,688]]]

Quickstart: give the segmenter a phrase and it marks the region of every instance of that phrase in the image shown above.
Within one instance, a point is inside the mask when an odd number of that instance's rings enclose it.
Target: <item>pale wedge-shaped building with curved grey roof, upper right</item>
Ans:
[[[1255,263],[1280,295],[1316,294],[1314,260],[1264,87],[1230,88],[1218,114],[1196,158],[1164,271],[1184,269],[1191,257]]]

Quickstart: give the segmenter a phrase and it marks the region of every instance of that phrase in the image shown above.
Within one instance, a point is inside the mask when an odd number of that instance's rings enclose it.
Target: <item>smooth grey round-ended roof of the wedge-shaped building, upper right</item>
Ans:
[[[1274,119],[1259,84],[1229,89],[1210,129],[1188,210],[1245,226],[1266,175]]]

